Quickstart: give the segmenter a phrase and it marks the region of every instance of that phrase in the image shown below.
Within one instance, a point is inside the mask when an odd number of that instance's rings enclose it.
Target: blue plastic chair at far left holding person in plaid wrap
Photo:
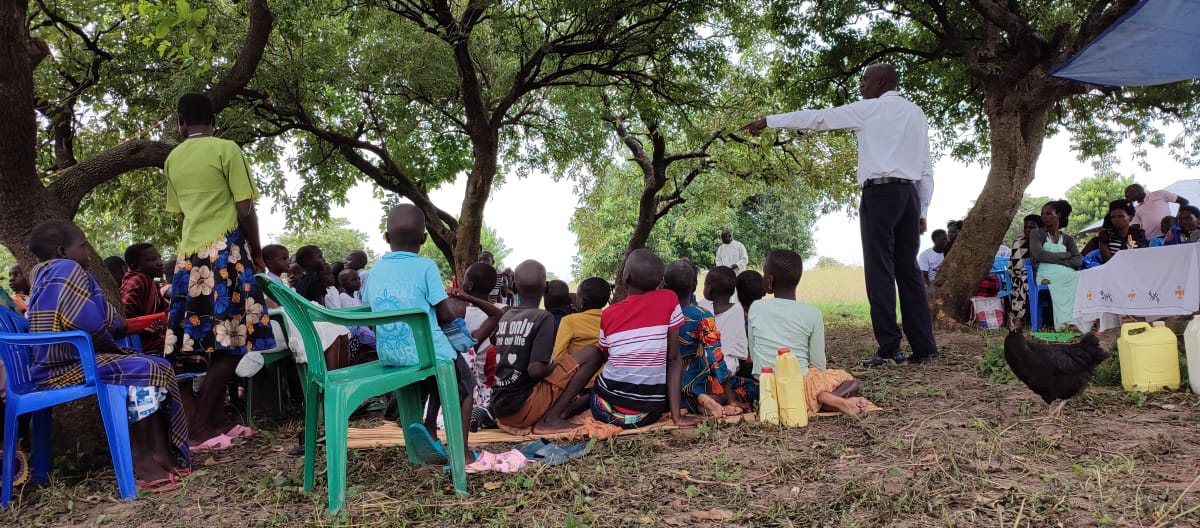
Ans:
[[[100,402],[100,418],[104,422],[104,434],[108,437],[108,450],[113,456],[113,469],[116,473],[116,487],[121,499],[133,500],[137,487],[133,482],[133,451],[130,449],[130,425],[125,401],[128,389],[124,385],[109,385],[96,378],[96,353],[91,347],[88,332],[72,330],[65,332],[30,334],[29,322],[16,312],[0,308],[0,360],[4,360],[8,374],[7,402],[4,415],[4,490],[0,492],[0,508],[8,508],[12,502],[13,457],[17,452],[17,418],[32,413],[30,433],[32,434],[32,470],[34,482],[49,481],[50,469],[50,412],[54,406],[82,397],[96,395]],[[29,376],[34,360],[34,346],[67,343],[74,347],[83,365],[83,384],[62,389],[38,390]]]

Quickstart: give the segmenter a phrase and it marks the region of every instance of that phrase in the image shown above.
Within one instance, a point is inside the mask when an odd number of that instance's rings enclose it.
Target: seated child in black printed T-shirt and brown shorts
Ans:
[[[546,292],[546,268],[526,260],[517,266],[514,282],[521,301],[500,317],[496,330],[492,415],[500,428],[514,433],[576,428],[566,419],[587,408],[587,400],[575,397],[600,370],[604,354],[584,347],[554,361],[554,316],[538,308]]]

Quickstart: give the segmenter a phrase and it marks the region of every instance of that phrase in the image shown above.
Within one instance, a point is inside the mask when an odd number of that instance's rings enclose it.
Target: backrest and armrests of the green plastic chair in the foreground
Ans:
[[[292,324],[295,325],[296,330],[300,332],[300,337],[304,341],[304,354],[305,359],[308,361],[307,370],[310,376],[317,379],[325,379],[328,370],[325,366],[325,350],[320,346],[320,336],[317,334],[313,322],[324,320],[335,324],[358,324],[373,326],[374,323],[364,324],[362,322],[348,322],[344,320],[338,312],[342,313],[364,313],[354,308],[348,310],[329,310],[310,302],[307,299],[300,296],[295,290],[288,288],[287,284],[269,277],[265,274],[256,275],[258,284],[263,288],[275,302],[278,302],[283,307],[283,312],[292,318]],[[379,318],[391,316],[394,319],[403,317],[408,319],[408,326],[413,331],[413,341],[416,343],[418,353],[418,367],[420,368],[432,368],[437,358],[433,354],[433,335],[428,324],[428,314],[421,311],[420,313],[401,313],[401,312],[380,312]],[[370,312],[368,312],[370,313]],[[421,323],[421,324],[418,324]]]

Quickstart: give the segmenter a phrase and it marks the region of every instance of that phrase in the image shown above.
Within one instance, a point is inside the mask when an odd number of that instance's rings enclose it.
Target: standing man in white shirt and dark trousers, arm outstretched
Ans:
[[[917,268],[917,250],[925,233],[925,214],[934,196],[929,150],[929,120],[919,107],[896,92],[900,80],[890,65],[866,67],[858,89],[863,100],[836,108],[799,110],[758,119],[743,128],[757,136],[763,128],[841,130],[858,137],[858,185],[863,187],[858,220],[863,235],[863,266],[871,326],[880,348],[864,366],[887,361],[912,364],[937,358],[925,281]],[[900,350],[896,287],[904,335],[912,355]]]

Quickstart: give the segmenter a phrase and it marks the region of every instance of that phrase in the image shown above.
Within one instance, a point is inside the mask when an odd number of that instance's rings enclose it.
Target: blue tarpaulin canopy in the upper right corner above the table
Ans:
[[[1108,86],[1200,78],[1200,0],[1142,0],[1050,74]]]

